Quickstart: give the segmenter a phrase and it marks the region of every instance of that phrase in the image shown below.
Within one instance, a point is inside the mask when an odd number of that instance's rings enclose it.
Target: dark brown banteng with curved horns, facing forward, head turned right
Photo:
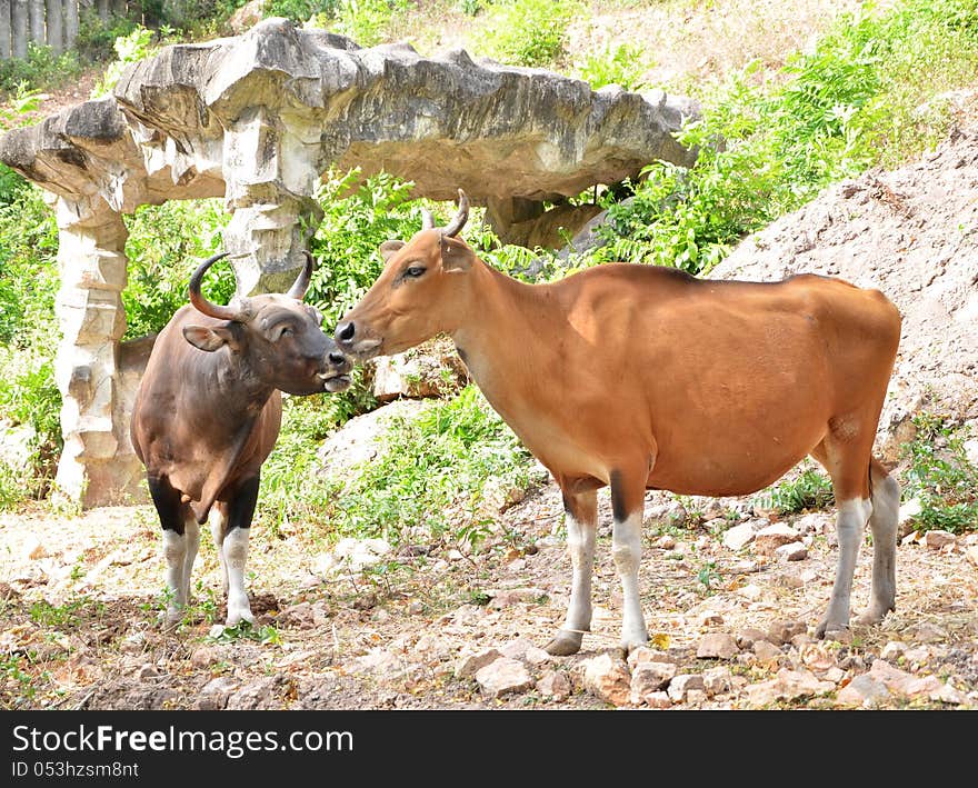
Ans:
[[[228,626],[253,620],[244,590],[259,471],[281,426],[280,391],[312,395],[350,383],[350,361],[302,303],[312,257],[291,290],[221,307],[200,293],[217,255],[190,279],[190,303],[160,331],[132,409],[130,437],[163,527],[166,627],[182,616],[210,517],[228,597]]]

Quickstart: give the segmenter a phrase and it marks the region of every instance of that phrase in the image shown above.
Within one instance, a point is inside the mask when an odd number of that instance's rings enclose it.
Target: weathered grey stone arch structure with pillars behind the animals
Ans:
[[[463,51],[360,49],[269,19],[242,36],[166,47],[129,67],[114,98],[9,132],[0,160],[47,189],[58,212],[59,488],[86,506],[139,489],[123,380],[138,379],[128,359],[143,353],[119,342],[121,213],[223,197],[224,247],[244,293],[291,281],[330,168],[392,172],[440,200],[461,187],[503,239],[556,246],[592,209],[545,213],[545,201],[633,177],[655,159],[688,163],[672,132],[696,111],[662,93],[592,91]]]

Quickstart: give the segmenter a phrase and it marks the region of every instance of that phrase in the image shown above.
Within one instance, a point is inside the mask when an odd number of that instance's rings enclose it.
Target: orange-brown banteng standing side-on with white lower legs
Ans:
[[[839,562],[819,636],[849,626],[862,529],[872,530],[866,622],[894,609],[899,486],[871,456],[900,338],[876,290],[797,276],[709,281],[605,265],[525,285],[429,227],[381,247],[387,265],[337,327],[347,352],[397,353],[452,337],[492,407],[563,492],[573,565],[563,628],[547,649],[579,650],[591,624],[597,489],[610,485],[612,555],[626,648],[647,641],[638,591],[646,489],[740,496],[806,455],[832,479]]]

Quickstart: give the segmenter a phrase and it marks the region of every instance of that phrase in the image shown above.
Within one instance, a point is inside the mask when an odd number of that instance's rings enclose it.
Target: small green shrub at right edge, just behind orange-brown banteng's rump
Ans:
[[[917,530],[941,529],[960,533],[978,528],[978,467],[965,443],[971,437],[948,417],[921,412],[914,417],[917,435],[904,446],[904,499],[917,498]]]

